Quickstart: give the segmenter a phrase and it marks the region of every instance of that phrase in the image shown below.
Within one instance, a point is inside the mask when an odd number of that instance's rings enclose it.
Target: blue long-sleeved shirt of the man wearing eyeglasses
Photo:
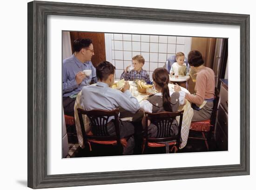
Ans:
[[[84,80],[78,85],[75,81],[75,75],[79,71],[92,70],[90,76],[86,76]],[[68,57],[63,61],[62,65],[62,94],[63,97],[78,94],[80,90],[90,84],[90,82],[97,82],[96,69],[91,61],[81,63],[74,55]]]

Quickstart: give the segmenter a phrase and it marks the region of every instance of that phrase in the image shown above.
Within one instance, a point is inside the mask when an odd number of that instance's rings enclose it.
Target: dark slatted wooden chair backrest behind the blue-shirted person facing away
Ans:
[[[114,109],[112,111],[106,111],[101,109],[94,109],[90,111],[85,111],[81,108],[77,108],[78,117],[80,121],[81,131],[83,135],[84,142],[87,139],[94,139],[94,140],[116,140],[118,144],[120,144],[120,127],[119,127],[119,120],[118,114],[119,109]],[[85,133],[84,122],[82,115],[86,114],[90,120],[91,130],[93,135],[87,135]],[[108,134],[108,119],[110,116],[114,116],[114,123],[115,123],[115,133],[116,135],[109,135]]]

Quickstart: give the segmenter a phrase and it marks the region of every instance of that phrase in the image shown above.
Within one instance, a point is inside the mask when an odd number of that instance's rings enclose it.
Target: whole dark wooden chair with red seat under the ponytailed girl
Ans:
[[[180,146],[183,112],[184,112],[183,110],[179,112],[160,112],[156,114],[145,112],[146,128],[145,128],[143,145],[142,145],[143,147],[142,153],[148,152],[148,147],[164,147],[164,146],[166,146],[166,153],[172,152],[173,150],[174,152],[177,152]],[[178,134],[175,136],[168,136],[166,132],[169,131],[176,116],[180,116]],[[155,138],[148,137],[148,120],[150,120],[151,123],[153,123],[157,127],[157,136]],[[167,142],[167,141],[171,141],[171,142]],[[166,143],[163,144],[162,142],[166,142]],[[169,147],[171,147],[171,149],[169,149]]]

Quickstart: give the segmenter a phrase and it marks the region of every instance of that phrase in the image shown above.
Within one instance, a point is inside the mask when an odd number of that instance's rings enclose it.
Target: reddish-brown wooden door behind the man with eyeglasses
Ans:
[[[94,67],[102,61],[106,61],[105,35],[103,32],[70,32],[72,50],[74,40],[77,38],[90,38],[93,41],[94,56],[92,57],[92,63]]]

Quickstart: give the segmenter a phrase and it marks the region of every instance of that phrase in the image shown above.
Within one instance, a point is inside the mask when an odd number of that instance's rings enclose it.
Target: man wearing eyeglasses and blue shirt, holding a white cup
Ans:
[[[91,62],[94,56],[92,40],[76,39],[74,54],[62,64],[62,95],[64,114],[74,116],[76,95],[84,86],[97,82],[96,70]],[[84,72],[84,70],[91,70]],[[89,74],[90,73],[90,74]]]

